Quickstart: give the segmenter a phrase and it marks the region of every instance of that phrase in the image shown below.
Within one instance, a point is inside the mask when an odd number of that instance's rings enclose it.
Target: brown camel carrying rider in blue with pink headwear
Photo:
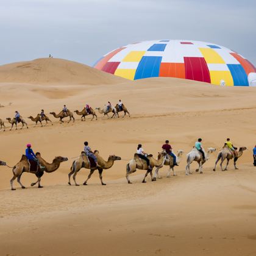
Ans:
[[[29,162],[27,161],[27,157],[26,155],[22,155],[20,162],[18,162],[12,169],[13,177],[10,180],[10,185],[12,190],[15,190],[15,188],[13,188],[13,181],[17,177],[18,177],[17,181],[18,183],[20,183],[21,188],[26,188],[23,186],[23,184],[20,181],[21,175],[23,174],[23,172],[30,172],[32,174],[35,174],[35,176],[37,176],[37,182],[31,183],[31,187],[33,187],[35,184],[38,183],[38,188],[43,188],[40,182],[41,182],[41,177],[44,174],[44,171],[54,172],[60,167],[60,163],[68,161],[67,157],[55,157],[52,163],[48,163],[41,157],[41,154],[39,152],[37,152],[35,155],[37,156],[40,162],[40,165],[43,166],[44,168],[41,168],[40,171],[30,171],[30,166],[29,166]]]

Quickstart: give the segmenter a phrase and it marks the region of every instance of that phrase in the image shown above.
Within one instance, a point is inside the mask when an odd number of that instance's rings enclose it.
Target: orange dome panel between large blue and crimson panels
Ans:
[[[185,64],[161,63],[159,76],[185,78]]]

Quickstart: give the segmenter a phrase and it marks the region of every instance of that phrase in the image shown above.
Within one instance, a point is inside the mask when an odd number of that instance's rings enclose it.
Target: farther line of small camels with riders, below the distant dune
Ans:
[[[111,103],[108,101],[108,104],[105,105],[102,109],[100,107],[96,107],[95,110],[98,110],[99,113],[104,114],[104,116],[107,116],[108,118],[119,118],[119,113],[123,112],[123,118],[128,115],[130,117],[130,112],[127,110],[126,106],[121,102],[121,100],[119,100],[118,104],[115,105],[115,107],[113,107],[111,105]],[[67,123],[70,123],[70,121],[75,121],[74,118],[74,114],[76,113],[76,115],[81,116],[81,121],[85,121],[85,117],[86,116],[92,116],[91,121],[93,121],[93,119],[95,118],[96,120],[98,120],[98,116],[96,115],[96,112],[93,110],[92,107],[90,107],[90,105],[86,104],[86,106],[81,110],[75,110],[74,112],[72,112],[71,110],[69,110],[66,105],[64,105],[63,109],[59,112],[49,112],[49,115],[54,116],[54,118],[59,119],[60,124],[63,124],[65,119],[68,119]],[[113,114],[112,116],[108,116],[108,114]],[[44,110],[41,110],[41,113],[38,113],[35,117],[33,116],[29,116],[28,119],[30,119],[32,122],[35,122],[35,126],[37,126],[37,124],[39,123],[41,125],[41,127],[43,127],[43,121],[45,122],[46,125],[48,125],[48,122],[52,124],[51,119],[44,113]],[[23,129],[24,126],[27,127],[27,129],[29,128],[27,126],[27,123],[25,121],[25,119],[20,115],[20,113],[18,111],[15,111],[15,117],[14,118],[6,118],[6,120],[8,121],[8,123],[11,124],[10,130],[13,129],[13,126],[15,126],[15,130],[18,129],[18,124],[22,124],[21,129]],[[4,120],[0,118],[0,130],[5,131],[5,124],[4,124]]]

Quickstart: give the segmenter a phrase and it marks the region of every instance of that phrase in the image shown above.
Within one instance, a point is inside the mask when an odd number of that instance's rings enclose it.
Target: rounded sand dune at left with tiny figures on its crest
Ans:
[[[0,66],[0,82],[24,84],[117,84],[121,77],[63,59],[36,59]]]

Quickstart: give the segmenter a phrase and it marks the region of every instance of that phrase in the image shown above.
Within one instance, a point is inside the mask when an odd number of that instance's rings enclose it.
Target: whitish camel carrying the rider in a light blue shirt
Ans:
[[[202,165],[204,165],[204,163],[209,160],[210,158],[210,154],[212,154],[213,152],[215,152],[216,149],[215,148],[208,148],[207,150],[207,154],[205,154],[205,159],[202,159],[202,155],[201,153],[196,149],[193,148],[188,154],[187,154],[187,166],[186,166],[186,175],[191,174],[190,172],[190,164],[193,163],[193,161],[197,162],[199,165],[199,168],[196,169],[196,171],[200,171],[200,173],[203,173],[202,171]]]

